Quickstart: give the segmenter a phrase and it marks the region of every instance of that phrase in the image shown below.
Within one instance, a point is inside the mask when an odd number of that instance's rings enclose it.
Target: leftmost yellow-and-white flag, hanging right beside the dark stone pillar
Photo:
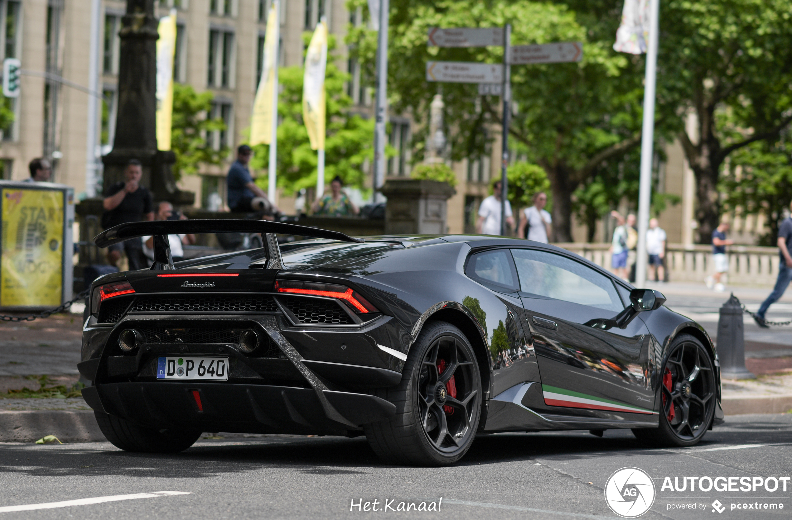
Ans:
[[[159,20],[157,40],[157,148],[170,150],[173,116],[173,57],[176,55],[176,9]]]

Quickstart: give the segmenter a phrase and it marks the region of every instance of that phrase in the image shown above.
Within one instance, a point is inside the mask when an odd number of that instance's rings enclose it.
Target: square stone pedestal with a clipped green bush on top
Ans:
[[[447,233],[447,200],[456,192],[437,180],[390,179],[382,189],[386,234]]]

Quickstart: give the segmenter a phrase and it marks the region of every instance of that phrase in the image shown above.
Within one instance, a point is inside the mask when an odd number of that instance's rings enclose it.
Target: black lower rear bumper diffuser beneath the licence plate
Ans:
[[[200,409],[193,392],[200,397]],[[343,435],[314,389],[195,382],[124,382],[82,390],[95,410],[145,427],[238,433]],[[348,423],[362,425],[396,413],[394,404],[364,393],[324,390]]]

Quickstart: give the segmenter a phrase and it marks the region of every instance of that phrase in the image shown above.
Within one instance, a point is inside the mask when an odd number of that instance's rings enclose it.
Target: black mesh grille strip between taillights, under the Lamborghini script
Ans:
[[[131,313],[274,313],[272,296],[139,296]]]

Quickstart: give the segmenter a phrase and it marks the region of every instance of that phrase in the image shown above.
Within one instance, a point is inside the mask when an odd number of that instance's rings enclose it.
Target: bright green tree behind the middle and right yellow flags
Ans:
[[[306,47],[310,32],[303,33]],[[329,36],[328,51],[333,51],[335,39]],[[330,57],[329,57],[330,58]],[[308,132],[303,123],[303,67],[289,66],[280,69],[281,86],[278,102],[278,186],[285,192],[316,186],[316,150],[310,149]],[[363,163],[373,158],[374,120],[364,119],[351,112],[352,99],[345,93],[348,74],[338,70],[333,59],[328,59],[325,74],[326,139],[325,179],[341,176],[345,184],[364,187]],[[266,169],[269,146],[257,145],[251,166]],[[257,182],[265,185],[266,176]]]

